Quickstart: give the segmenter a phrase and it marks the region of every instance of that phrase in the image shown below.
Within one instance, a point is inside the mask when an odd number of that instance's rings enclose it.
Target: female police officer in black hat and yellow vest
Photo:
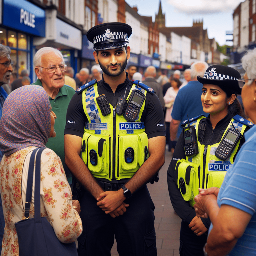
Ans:
[[[203,110],[209,116],[190,119],[190,126],[179,136],[167,172],[170,199],[182,218],[180,255],[203,255],[210,220],[197,218],[194,196],[199,187],[221,186],[244,142],[243,133],[249,129],[250,122],[241,117],[242,108],[236,99],[241,94],[239,78],[238,71],[221,65],[209,67],[204,78],[197,77],[203,84]]]

